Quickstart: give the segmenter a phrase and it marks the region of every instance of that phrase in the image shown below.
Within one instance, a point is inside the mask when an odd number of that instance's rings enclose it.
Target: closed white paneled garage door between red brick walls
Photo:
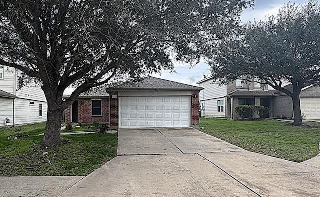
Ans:
[[[119,127],[188,127],[190,96],[119,97]]]

